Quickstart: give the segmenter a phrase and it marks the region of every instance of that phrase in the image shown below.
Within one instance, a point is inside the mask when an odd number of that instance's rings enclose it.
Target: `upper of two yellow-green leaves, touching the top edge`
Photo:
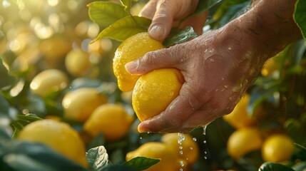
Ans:
[[[95,1],[88,7],[89,18],[102,27],[108,27],[128,15],[123,6],[108,1]]]

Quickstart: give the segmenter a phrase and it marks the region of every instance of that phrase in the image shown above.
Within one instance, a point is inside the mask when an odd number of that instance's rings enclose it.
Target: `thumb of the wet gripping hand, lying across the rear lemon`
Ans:
[[[151,51],[136,61],[126,63],[126,71],[131,74],[142,75],[158,68],[176,68],[180,63],[178,45]]]

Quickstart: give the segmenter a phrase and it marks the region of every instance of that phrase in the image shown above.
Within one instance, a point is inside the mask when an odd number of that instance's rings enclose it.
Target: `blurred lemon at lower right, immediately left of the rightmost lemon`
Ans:
[[[228,154],[235,160],[261,147],[262,136],[257,128],[240,128],[228,138]]]

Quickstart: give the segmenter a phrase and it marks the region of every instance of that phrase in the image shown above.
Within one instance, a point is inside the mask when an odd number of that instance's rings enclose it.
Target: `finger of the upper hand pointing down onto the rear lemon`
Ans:
[[[172,27],[176,10],[170,3],[171,1],[158,1],[151,26],[148,28],[149,35],[158,41],[163,41]]]

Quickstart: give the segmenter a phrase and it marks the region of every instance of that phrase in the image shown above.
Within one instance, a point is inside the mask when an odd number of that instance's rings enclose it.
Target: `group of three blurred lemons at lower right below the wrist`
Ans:
[[[285,133],[272,133],[265,135],[258,128],[260,118],[265,115],[261,107],[254,113],[248,112],[250,95],[246,94],[235,106],[232,113],[223,116],[236,130],[228,139],[228,154],[235,160],[247,155],[249,152],[261,150],[265,162],[284,162],[290,160],[294,151],[294,142]]]

